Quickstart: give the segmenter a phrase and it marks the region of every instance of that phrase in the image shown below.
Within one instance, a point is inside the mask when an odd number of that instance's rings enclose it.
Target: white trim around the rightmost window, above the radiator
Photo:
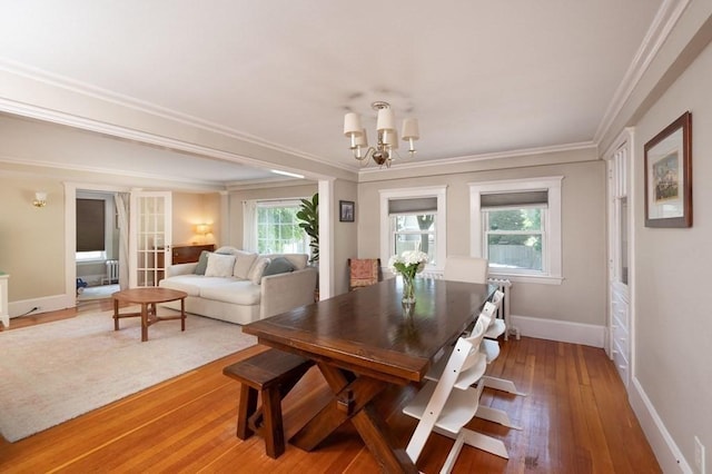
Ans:
[[[469,182],[469,254],[473,257],[484,255],[483,218],[479,196],[491,192],[548,190],[548,218],[545,219],[544,275],[521,275],[490,268],[492,277],[506,277],[512,282],[561,285],[562,238],[561,238],[561,185],[563,176],[527,179],[504,179],[498,181]]]

